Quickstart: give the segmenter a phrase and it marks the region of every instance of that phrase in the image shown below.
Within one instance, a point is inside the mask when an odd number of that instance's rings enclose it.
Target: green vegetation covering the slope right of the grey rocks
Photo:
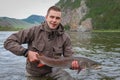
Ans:
[[[120,0],[87,0],[86,5],[96,30],[120,30]]]

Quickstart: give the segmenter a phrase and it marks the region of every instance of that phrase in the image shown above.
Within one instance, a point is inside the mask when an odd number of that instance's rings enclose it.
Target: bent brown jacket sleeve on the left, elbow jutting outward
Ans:
[[[22,46],[29,43],[33,37],[34,28],[21,30],[9,36],[4,42],[4,48],[11,51],[15,55],[25,56],[27,49]]]

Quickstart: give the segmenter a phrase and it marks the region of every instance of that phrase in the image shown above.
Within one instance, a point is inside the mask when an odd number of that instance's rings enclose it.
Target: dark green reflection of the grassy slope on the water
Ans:
[[[120,52],[120,33],[97,33],[92,36],[92,49],[105,52]],[[99,44],[97,44],[99,43]]]

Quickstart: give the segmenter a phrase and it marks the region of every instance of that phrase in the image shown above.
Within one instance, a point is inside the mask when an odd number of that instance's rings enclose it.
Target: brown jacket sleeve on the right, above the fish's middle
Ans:
[[[71,40],[70,36],[67,35],[67,38],[65,40],[64,46],[63,46],[63,56],[64,57],[70,57],[73,55],[73,50],[72,50],[72,45],[71,45]]]

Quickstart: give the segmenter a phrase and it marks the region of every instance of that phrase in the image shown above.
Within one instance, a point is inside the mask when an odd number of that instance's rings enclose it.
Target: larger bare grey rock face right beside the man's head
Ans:
[[[74,2],[75,0],[71,0]],[[70,30],[76,31],[82,18],[88,12],[88,8],[85,4],[85,0],[81,0],[80,7],[76,9],[63,9],[62,24],[70,26]]]

